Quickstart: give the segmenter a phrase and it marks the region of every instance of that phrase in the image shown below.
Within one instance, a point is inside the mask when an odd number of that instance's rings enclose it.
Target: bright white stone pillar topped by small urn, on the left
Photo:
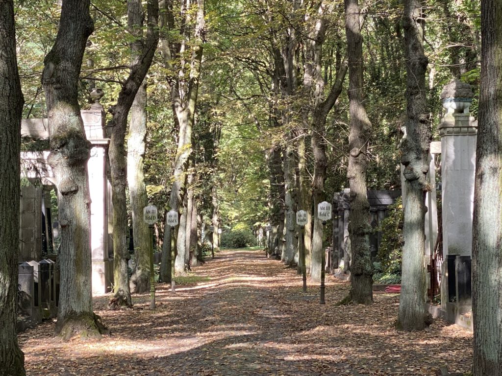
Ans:
[[[99,91],[100,89],[95,89]],[[102,93],[102,92],[101,92]],[[92,95],[91,95],[92,96]],[[101,94],[102,96],[102,94]],[[91,198],[91,258],[92,293],[105,294],[111,290],[113,260],[108,257],[108,166],[107,148],[109,140],[104,131],[104,109],[99,95],[89,110],[81,111],[85,135],[91,142],[90,158],[87,162],[89,195]]]

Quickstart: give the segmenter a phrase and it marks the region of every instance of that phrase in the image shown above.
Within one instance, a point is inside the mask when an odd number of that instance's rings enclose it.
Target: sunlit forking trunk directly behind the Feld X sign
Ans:
[[[205,30],[205,10],[204,0],[189,0],[182,2],[181,14],[184,18],[181,26],[176,24],[177,10],[174,9],[172,0],[162,0],[161,29],[165,31],[162,36],[161,51],[164,64],[170,72],[167,81],[170,87],[171,100],[173,103],[173,114],[178,126],[178,145],[176,159],[173,168],[173,185],[169,197],[169,207],[181,213],[183,200],[186,194],[187,168],[190,154],[192,152],[192,129],[194,125],[195,107],[199,90],[200,67],[202,62],[202,43]],[[192,8],[195,8],[192,10]],[[193,15],[196,17],[193,17]],[[181,38],[172,37],[172,33],[179,33]],[[191,50],[190,58],[187,52]],[[174,270],[176,274],[184,275],[188,265],[186,260],[185,235],[186,226],[191,226],[191,222],[182,221],[177,232],[176,257]],[[168,270],[171,269],[172,253],[171,229],[167,222],[165,225],[164,243],[162,249],[161,275],[163,281],[170,282]]]

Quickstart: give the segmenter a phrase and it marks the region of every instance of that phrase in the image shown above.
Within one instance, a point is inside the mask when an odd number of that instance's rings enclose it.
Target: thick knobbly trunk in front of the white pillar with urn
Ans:
[[[87,37],[94,28],[89,0],[63,0],[56,42],[44,59],[44,86],[61,226],[61,290],[55,334],[100,337],[92,312],[90,198],[87,160],[90,143],[78,105],[78,76]]]

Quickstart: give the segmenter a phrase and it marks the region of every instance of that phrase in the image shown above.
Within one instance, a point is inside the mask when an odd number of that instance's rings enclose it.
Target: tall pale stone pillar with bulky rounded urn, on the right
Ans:
[[[464,261],[465,257],[471,257],[477,122],[469,115],[472,91],[468,84],[458,80],[450,82],[444,87],[441,99],[446,109],[439,124],[445,264],[441,268],[444,273],[441,305],[446,302],[447,318],[451,321],[459,313],[458,291],[464,292],[464,302],[468,301],[465,292],[470,291],[470,275],[465,273],[470,273],[470,268],[462,269],[462,286],[459,286],[455,265],[459,257]]]

